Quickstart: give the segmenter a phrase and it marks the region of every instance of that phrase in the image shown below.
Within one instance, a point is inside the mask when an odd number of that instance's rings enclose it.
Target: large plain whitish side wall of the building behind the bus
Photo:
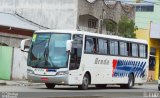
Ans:
[[[76,29],[77,0],[1,0],[0,6],[42,26]]]

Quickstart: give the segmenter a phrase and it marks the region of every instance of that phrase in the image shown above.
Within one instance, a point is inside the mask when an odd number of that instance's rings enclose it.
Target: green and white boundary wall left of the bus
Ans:
[[[27,53],[19,48],[0,46],[0,80],[27,79]]]

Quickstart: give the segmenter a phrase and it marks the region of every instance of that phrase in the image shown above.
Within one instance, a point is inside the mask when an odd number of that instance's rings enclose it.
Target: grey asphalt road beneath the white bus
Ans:
[[[157,84],[136,85],[133,89],[91,86],[88,90],[79,90],[76,86],[56,86],[55,89],[47,89],[45,85],[0,86],[0,92],[0,98],[160,98]]]

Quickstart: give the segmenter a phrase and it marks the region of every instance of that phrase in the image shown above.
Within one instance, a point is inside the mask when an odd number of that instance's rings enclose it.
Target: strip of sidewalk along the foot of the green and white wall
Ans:
[[[44,83],[31,83],[28,81],[7,81],[7,80],[0,80],[1,85],[8,85],[8,86],[34,86],[34,85],[44,85]]]

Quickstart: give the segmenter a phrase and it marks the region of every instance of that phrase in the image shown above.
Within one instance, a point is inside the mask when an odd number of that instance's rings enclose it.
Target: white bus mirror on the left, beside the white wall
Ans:
[[[20,43],[21,51],[28,52],[30,45],[31,45],[31,40],[30,39],[22,40],[21,43]]]

